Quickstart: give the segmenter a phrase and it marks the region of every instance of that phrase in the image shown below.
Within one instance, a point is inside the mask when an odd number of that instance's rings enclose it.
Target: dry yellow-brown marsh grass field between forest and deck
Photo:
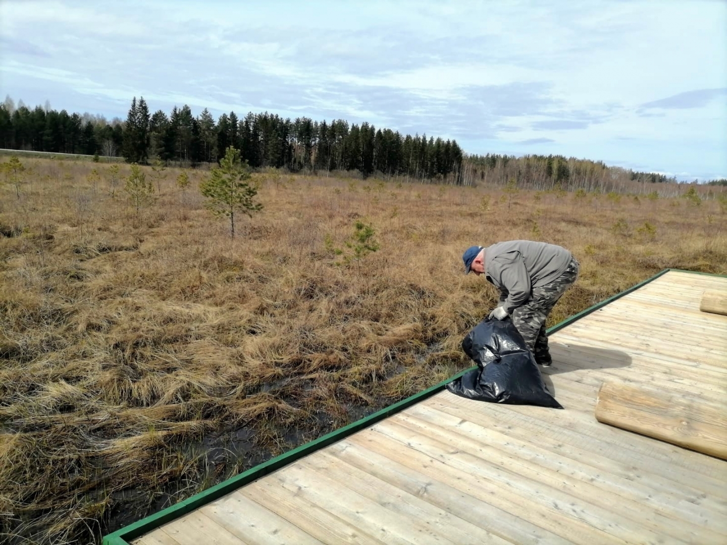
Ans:
[[[0,189],[10,543],[97,541],[469,366],[459,342],[497,299],[462,275],[471,244],[574,251],[582,275],[553,323],[664,267],[727,273],[715,201],[283,176],[231,241],[200,172],[182,193],[168,169],[137,222],[107,166],[26,162],[20,199]],[[356,219],[381,249],[335,265],[326,237],[343,246]]]

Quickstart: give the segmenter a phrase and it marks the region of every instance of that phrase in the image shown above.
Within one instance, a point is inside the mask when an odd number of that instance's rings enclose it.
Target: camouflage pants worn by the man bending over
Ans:
[[[550,363],[545,320],[555,303],[578,278],[579,264],[576,258],[571,259],[566,271],[553,282],[534,288],[530,299],[513,310],[513,323],[525,339],[528,347],[539,363]]]

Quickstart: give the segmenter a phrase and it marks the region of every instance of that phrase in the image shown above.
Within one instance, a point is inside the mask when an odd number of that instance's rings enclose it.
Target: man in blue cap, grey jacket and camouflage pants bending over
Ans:
[[[499,289],[499,303],[489,317],[512,317],[537,363],[550,366],[545,320],[578,278],[573,254],[555,244],[507,241],[486,248],[470,246],[462,260],[465,274],[483,274]]]

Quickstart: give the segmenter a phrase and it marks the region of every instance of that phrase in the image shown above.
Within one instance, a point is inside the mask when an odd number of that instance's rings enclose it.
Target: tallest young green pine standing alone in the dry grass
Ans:
[[[229,146],[220,166],[212,169],[211,176],[201,182],[199,189],[207,198],[205,206],[216,216],[230,218],[230,237],[235,237],[235,214],[241,212],[252,217],[262,204],[254,202],[257,187],[250,183],[247,163],[240,161],[240,152]]]

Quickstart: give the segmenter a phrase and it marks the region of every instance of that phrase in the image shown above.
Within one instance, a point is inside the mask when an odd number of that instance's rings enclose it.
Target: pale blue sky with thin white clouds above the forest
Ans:
[[[368,121],[727,178],[727,0],[0,0],[0,100]]]

